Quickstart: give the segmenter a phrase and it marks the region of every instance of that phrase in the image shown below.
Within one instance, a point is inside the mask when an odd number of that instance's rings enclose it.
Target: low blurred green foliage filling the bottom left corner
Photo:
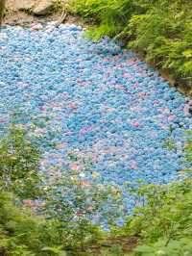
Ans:
[[[93,253],[91,247],[101,247],[105,240],[105,232],[85,219],[69,227],[58,218],[37,216],[12,193],[0,192],[2,256],[86,255],[85,248]]]

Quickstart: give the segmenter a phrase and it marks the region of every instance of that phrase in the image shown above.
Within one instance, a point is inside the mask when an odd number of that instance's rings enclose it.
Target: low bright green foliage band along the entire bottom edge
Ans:
[[[98,250],[100,255],[130,255],[121,250],[119,243],[122,238],[136,237],[139,245],[133,255],[191,255],[191,189],[191,179],[170,186],[143,188],[138,198],[145,196],[148,205],[136,209],[122,229],[105,234],[82,222],[76,235],[86,237],[86,242],[80,244],[83,238],[79,243],[76,237],[71,245],[68,242],[75,226],[65,233],[63,222],[39,218],[15,206],[17,200],[12,194],[0,192],[0,252],[2,255],[98,255]]]

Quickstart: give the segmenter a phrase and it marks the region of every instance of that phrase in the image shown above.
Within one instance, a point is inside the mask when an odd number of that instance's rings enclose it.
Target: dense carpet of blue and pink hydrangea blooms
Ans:
[[[0,34],[1,136],[16,115],[40,141],[42,170],[74,169],[84,186],[177,179],[190,101],[108,38],[94,43],[75,25],[36,29]]]

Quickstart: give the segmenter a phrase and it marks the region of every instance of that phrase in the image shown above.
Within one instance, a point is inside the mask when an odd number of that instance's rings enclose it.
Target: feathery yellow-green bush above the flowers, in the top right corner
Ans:
[[[72,10],[94,22],[91,38],[124,39],[147,61],[192,86],[191,9],[187,0],[75,0]]]

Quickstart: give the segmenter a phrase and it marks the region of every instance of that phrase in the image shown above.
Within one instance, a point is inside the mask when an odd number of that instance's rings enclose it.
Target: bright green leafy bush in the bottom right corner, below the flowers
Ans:
[[[122,231],[139,237],[135,255],[191,255],[192,179],[150,185],[141,188],[137,196],[147,203],[135,209]]]

